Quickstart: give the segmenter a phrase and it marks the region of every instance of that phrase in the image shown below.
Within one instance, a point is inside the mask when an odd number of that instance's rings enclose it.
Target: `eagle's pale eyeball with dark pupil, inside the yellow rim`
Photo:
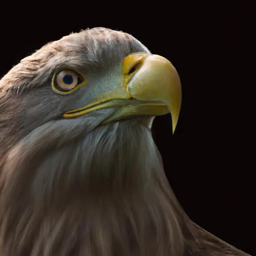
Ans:
[[[54,79],[54,89],[59,92],[70,92],[83,82],[82,76],[71,69],[60,70]]]

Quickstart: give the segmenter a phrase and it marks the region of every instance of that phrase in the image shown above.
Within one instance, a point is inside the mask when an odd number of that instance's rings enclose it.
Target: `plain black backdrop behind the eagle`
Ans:
[[[241,71],[247,7],[179,3],[9,2],[0,15],[0,76],[45,43],[88,27],[130,33],[169,59],[182,83],[180,118],[174,135],[170,115],[153,124],[168,180],[191,220],[255,255],[253,116]]]

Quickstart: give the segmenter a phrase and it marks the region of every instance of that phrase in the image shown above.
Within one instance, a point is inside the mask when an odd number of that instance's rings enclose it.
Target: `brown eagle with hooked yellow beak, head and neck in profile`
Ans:
[[[192,222],[151,134],[181,83],[133,36],[92,28],[0,80],[1,256],[248,254]],[[173,170],[175,171],[175,170]]]

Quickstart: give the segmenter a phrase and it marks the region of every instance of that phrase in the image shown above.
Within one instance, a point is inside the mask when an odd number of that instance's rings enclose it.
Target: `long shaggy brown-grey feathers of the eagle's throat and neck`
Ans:
[[[69,140],[51,129],[0,167],[3,255],[183,255],[189,220],[148,128],[116,122]]]

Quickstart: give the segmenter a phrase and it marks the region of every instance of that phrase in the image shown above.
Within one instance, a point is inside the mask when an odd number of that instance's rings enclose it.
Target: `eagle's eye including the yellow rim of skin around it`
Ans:
[[[82,73],[71,68],[62,68],[55,72],[52,79],[52,89],[61,94],[68,94],[86,84]]]

